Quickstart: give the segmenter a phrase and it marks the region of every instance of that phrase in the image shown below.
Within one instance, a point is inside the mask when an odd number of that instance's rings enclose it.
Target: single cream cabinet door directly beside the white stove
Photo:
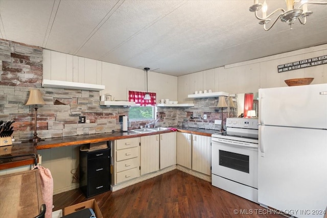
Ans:
[[[211,175],[211,137],[192,135],[192,169]]]

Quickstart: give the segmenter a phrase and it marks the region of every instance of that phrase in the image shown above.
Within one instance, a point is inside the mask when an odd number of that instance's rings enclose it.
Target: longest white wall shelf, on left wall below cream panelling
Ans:
[[[75,83],[75,82],[66,82],[66,81],[59,81],[59,80],[43,80],[42,87],[80,89],[80,90],[89,90],[89,91],[101,91],[105,89],[104,85],[96,85],[96,84],[89,84],[89,83]]]

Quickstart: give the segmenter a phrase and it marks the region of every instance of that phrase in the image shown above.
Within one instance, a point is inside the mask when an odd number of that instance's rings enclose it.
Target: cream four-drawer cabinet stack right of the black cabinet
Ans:
[[[139,140],[135,137],[114,141],[114,184],[139,177]]]

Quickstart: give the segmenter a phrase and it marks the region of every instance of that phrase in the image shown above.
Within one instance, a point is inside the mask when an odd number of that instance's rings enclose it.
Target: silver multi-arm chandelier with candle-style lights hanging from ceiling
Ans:
[[[307,17],[313,13],[312,11],[308,11],[308,5],[327,5],[327,2],[309,2],[308,0],[285,0],[285,2],[287,10],[278,8],[268,16],[266,0],[264,1],[264,4],[259,3],[259,0],[254,0],[254,4],[249,8],[249,11],[254,12],[255,17],[260,20],[259,24],[264,26],[265,31],[270,30],[278,19],[288,23],[288,25],[290,25],[290,30],[292,30],[293,23],[296,19],[298,19],[302,25],[307,23]],[[296,5],[298,5],[297,8],[295,7]],[[262,10],[262,17],[258,16],[258,11],[260,9]],[[272,22],[272,25],[267,28],[266,25],[271,21],[270,17],[274,14],[278,14],[278,16]]]

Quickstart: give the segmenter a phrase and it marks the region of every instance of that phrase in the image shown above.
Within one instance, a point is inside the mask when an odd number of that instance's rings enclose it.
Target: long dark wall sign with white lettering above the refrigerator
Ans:
[[[309,58],[306,60],[301,60],[301,61],[295,61],[292,63],[287,63],[287,64],[282,64],[278,65],[277,69],[278,72],[286,72],[294,69],[301,69],[301,68],[306,68],[306,67],[311,67],[311,66],[318,66],[321,64],[327,64],[327,55],[323,55],[320,57],[316,58]]]

